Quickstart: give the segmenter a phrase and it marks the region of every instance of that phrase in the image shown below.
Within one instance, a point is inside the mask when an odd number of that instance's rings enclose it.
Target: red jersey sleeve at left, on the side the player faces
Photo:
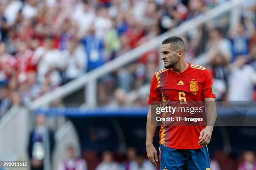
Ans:
[[[159,91],[159,88],[157,87],[156,75],[154,74],[151,81],[151,85],[150,85],[148,104],[156,105],[156,104],[159,104],[160,101],[161,101],[161,93]]]

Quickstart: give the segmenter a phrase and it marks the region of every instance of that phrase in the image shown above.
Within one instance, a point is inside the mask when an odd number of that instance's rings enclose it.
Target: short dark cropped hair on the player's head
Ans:
[[[169,44],[169,43],[171,44],[174,50],[182,50],[183,52],[186,51],[185,43],[181,37],[176,37],[176,36],[168,37],[162,42],[162,44]]]

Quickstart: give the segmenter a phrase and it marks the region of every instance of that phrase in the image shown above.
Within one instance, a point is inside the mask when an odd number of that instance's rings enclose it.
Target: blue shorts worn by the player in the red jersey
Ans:
[[[161,170],[210,170],[207,146],[182,150],[160,145]]]

